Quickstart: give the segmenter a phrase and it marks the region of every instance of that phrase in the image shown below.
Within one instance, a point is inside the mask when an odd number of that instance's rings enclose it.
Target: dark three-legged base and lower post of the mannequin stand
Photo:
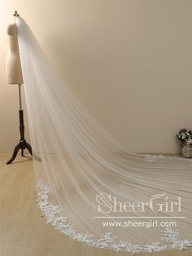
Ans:
[[[32,147],[29,143],[26,142],[24,139],[24,111],[19,110],[19,116],[20,116],[20,143],[18,143],[15,146],[13,155],[9,161],[7,161],[7,165],[10,165],[12,161],[15,160],[15,157],[17,156],[17,153],[19,150],[21,150],[21,156],[24,156],[24,149],[27,148],[28,152],[31,154],[32,157],[34,157],[37,161],[41,161],[41,159],[37,156],[33,156]]]

